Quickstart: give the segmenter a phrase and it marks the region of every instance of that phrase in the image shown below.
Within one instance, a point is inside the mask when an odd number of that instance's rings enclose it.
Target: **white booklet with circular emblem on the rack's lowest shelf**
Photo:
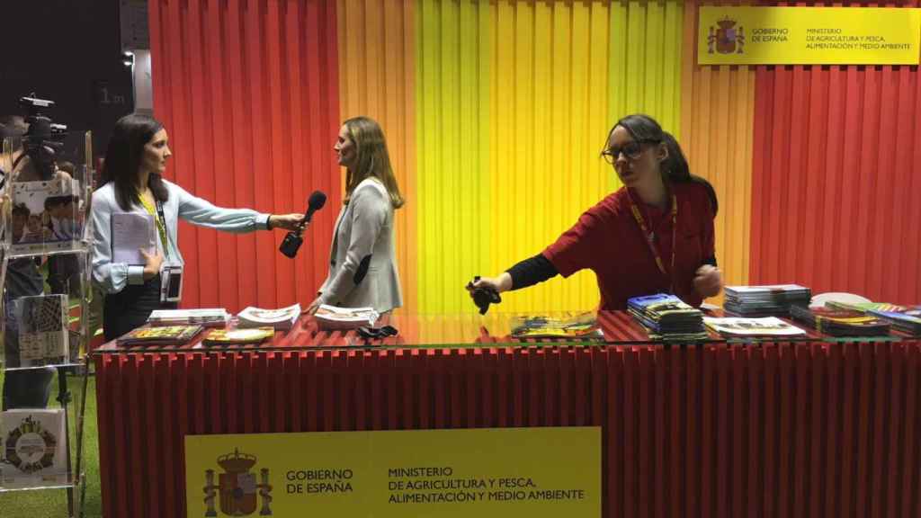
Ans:
[[[64,410],[6,410],[0,414],[0,434],[0,488],[66,481]]]

